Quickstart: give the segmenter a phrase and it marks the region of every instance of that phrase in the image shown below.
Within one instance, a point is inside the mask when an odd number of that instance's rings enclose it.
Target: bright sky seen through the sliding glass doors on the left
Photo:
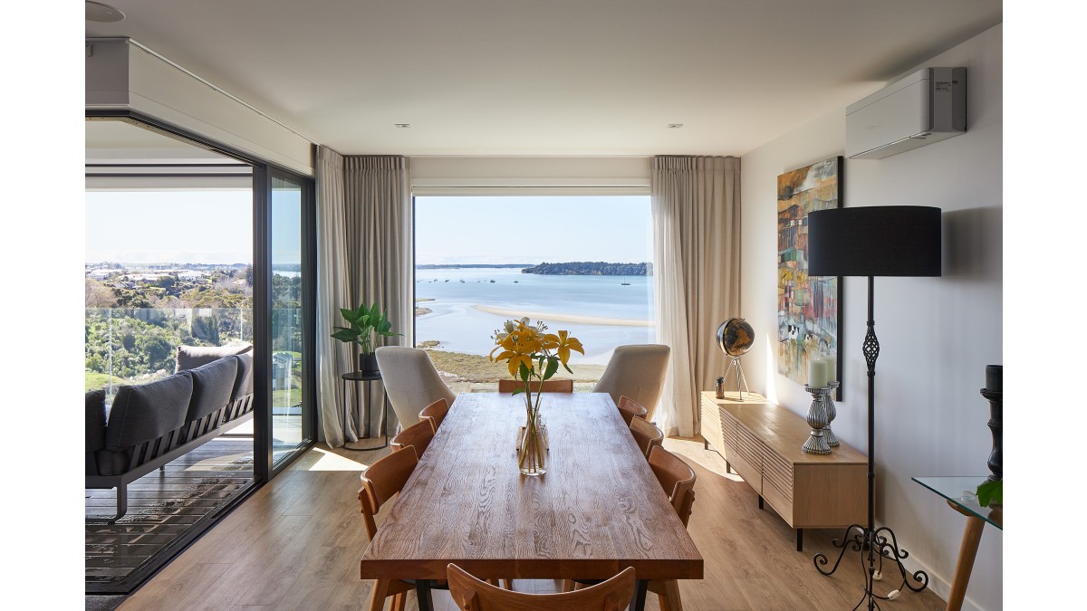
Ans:
[[[86,263],[252,263],[249,189],[87,191]],[[301,261],[297,191],[273,190],[272,260]]]

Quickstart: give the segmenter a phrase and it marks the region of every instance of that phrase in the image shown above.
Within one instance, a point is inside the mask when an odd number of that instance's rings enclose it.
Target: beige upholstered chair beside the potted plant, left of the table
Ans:
[[[441,381],[425,350],[382,346],[374,353],[377,354],[377,369],[382,371],[382,383],[401,427],[420,422],[418,412],[438,399],[452,404],[457,398]]]

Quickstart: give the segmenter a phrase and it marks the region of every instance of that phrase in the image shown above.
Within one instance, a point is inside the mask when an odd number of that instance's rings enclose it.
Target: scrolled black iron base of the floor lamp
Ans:
[[[838,552],[838,559],[834,561],[834,566],[829,571],[823,570],[830,562],[825,554],[822,552],[816,553],[813,559],[815,569],[824,575],[833,575],[838,570],[841,558],[846,554],[847,546],[852,548],[853,551],[861,552],[867,557],[866,559],[864,556],[861,557],[862,565],[864,565],[865,560],[867,562],[864,576],[864,595],[861,596],[861,600],[853,607],[853,611],[860,609],[865,601],[867,601],[867,609],[870,611],[879,609],[878,601],[895,600],[902,593],[903,588],[909,588],[912,591],[921,591],[928,586],[927,573],[916,571],[910,574],[905,571],[905,566],[902,565],[902,559],[908,558],[910,552],[898,547],[895,533],[886,526],[872,531],[860,524],[851,524],[846,528],[842,538],[834,539],[833,543],[834,547],[840,548],[841,551]],[[883,579],[885,559],[892,563],[891,569],[898,569],[899,574],[902,576],[902,583],[899,584],[898,588],[889,590],[887,594],[878,594],[875,591],[875,583]]]

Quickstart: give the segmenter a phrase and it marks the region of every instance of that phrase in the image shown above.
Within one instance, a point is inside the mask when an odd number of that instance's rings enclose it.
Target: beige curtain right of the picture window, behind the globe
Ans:
[[[658,422],[670,435],[699,432],[699,394],[727,366],[716,332],[740,315],[739,178],[738,158],[653,159],[655,322],[672,348]]]

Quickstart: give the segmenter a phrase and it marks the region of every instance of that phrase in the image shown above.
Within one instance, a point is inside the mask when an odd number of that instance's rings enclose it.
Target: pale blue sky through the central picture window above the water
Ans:
[[[415,262],[652,260],[649,196],[415,198]]]

